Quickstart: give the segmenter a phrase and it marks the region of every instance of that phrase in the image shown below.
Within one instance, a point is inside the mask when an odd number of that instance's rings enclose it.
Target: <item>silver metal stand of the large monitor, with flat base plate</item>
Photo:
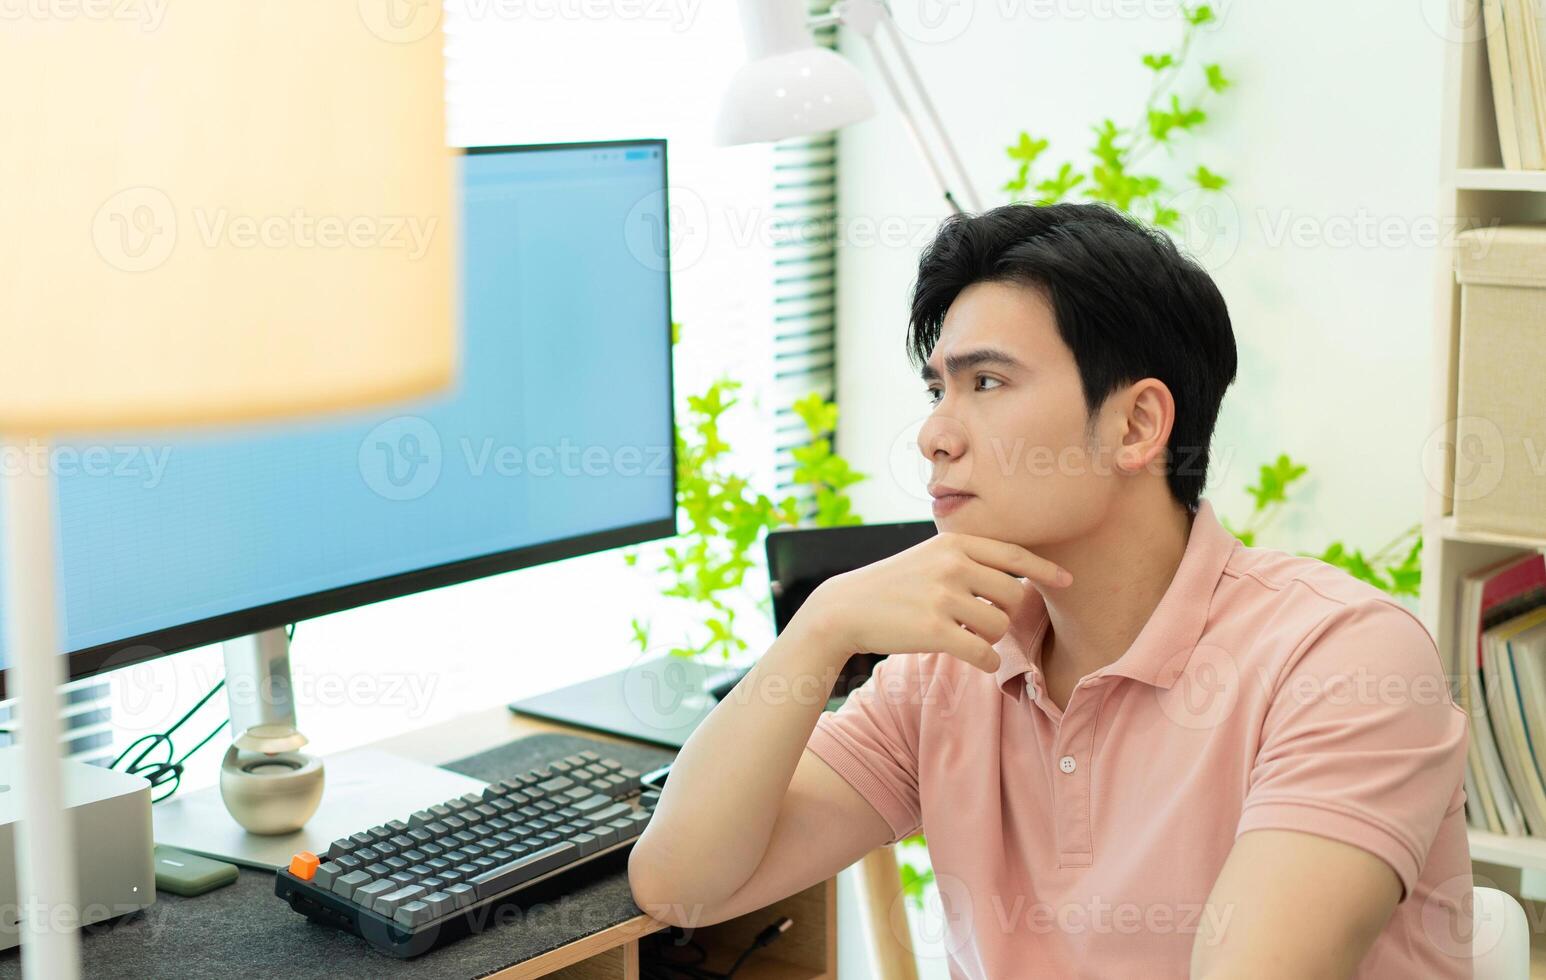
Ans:
[[[275,754],[295,754],[306,737],[295,726],[289,637],[283,628],[224,645],[226,696],[235,739],[261,733]],[[322,853],[359,830],[407,819],[453,796],[482,791],[482,781],[376,750],[339,753],[323,761],[322,802],[300,830],[252,833],[230,815],[218,785],[176,796],[152,808],[158,844],[244,864],[275,869],[294,853]]]

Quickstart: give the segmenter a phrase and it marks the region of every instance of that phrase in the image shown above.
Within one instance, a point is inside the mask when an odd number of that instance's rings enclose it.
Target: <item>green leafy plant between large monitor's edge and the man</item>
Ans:
[[[680,339],[680,325],[671,325],[671,340]],[[676,428],[677,510],[685,530],[665,547],[665,561],[656,572],[665,577],[662,595],[694,603],[702,612],[703,631],[686,635],[671,648],[676,657],[713,657],[728,660],[747,649],[736,629],[736,603],[762,536],[779,527],[836,527],[861,524],[853,513],[847,488],[867,478],[855,471],[843,456],[832,451],[832,434],[838,428],[838,407],[818,393],[793,403],[804,420],[810,441],[796,447],[793,482],[809,485],[815,510],[802,515],[799,498],[788,495],[773,501],[758,492],[751,479],[736,471],[728,461],[730,444],[720,433],[720,420],[741,399],[741,382],[720,377],[702,394],[686,397],[686,411]],[[637,566],[638,549],[628,549],[623,561]],[[759,600],[767,612],[767,600]],[[649,649],[649,623],[634,617],[632,641],[640,651]]]

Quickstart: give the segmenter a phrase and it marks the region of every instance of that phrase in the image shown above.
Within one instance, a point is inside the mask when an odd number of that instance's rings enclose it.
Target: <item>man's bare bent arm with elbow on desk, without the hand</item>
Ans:
[[[697,927],[759,909],[892,839],[881,815],[805,751],[847,655],[798,621],[688,737],[634,844],[634,901],[663,923]]]

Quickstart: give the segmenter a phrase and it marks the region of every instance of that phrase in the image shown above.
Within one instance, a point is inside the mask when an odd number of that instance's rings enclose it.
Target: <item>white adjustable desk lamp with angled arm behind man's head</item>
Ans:
[[[832,12],[805,19],[804,0],[739,0],[741,25],[747,36],[747,59],[719,107],[714,139],[719,145],[770,142],[790,136],[810,136],[844,127],[875,114],[875,104],[864,88],[858,70],[843,56],[816,46],[810,28],[841,23],[864,39],[886,90],[901,111],[903,125],[912,145],[923,156],[929,175],[938,185],[951,210],[962,207],[951,192],[934,153],[929,151],[918,124],[897,87],[897,77],[886,63],[877,34],[884,34],[897,51],[903,74],[917,91],[918,104],[938,133],[951,165],[960,175],[960,185],[972,210],[982,210],[971,178],[962,165],[955,145],[945,131],[929,90],[901,43],[901,34],[883,0],[841,0]]]

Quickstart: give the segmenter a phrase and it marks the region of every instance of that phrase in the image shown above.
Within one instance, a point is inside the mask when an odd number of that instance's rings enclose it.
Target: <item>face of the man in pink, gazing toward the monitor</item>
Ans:
[[[943,512],[935,501],[940,530],[1034,547],[1099,522],[1115,492],[1115,462],[1095,450],[1099,422],[1085,434],[1079,369],[1039,291],[963,289],[945,314],[925,385],[934,411],[918,450],[929,461],[929,485],[971,495]],[[1110,427],[1112,419],[1099,419]]]

